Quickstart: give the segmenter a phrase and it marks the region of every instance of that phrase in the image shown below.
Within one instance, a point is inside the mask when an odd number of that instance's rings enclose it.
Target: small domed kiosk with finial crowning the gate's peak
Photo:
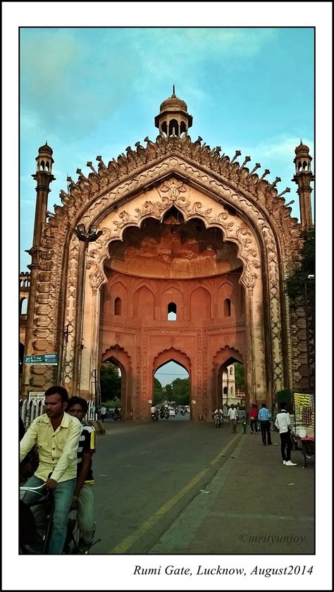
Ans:
[[[173,85],[171,97],[161,103],[160,113],[154,118],[154,124],[159,128],[160,134],[165,133],[167,136],[180,136],[184,132],[187,134],[188,128],[192,126],[192,116],[187,113],[187,109],[185,101],[176,96]]]

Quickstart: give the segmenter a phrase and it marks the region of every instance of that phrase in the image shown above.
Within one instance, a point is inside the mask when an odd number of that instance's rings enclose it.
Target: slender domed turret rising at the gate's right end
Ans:
[[[297,194],[299,195],[299,210],[300,221],[302,228],[310,228],[312,224],[311,211],[311,181],[314,180],[314,175],[311,171],[312,157],[309,155],[309,147],[305,146],[300,140],[299,146],[295,149],[294,163],[296,166],[296,173],[292,177],[298,185]]]

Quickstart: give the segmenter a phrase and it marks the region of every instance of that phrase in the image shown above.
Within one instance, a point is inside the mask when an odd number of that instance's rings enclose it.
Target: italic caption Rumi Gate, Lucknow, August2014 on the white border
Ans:
[[[167,576],[290,576],[290,575],[311,575],[313,572],[313,565],[287,565],[285,567],[259,567],[256,565],[247,573],[243,567],[204,567],[198,565],[196,572],[190,567],[176,567],[175,565],[167,565],[166,567],[142,567],[136,565],[133,575],[138,576],[159,576],[165,574]]]

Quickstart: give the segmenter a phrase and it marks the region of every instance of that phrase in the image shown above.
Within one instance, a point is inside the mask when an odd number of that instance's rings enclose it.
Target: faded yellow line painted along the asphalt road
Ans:
[[[135,530],[135,532],[133,532],[132,534],[130,534],[129,536],[124,538],[123,541],[120,541],[120,543],[118,543],[118,545],[116,545],[116,547],[114,547],[111,551],[109,551],[109,554],[126,553],[126,551],[128,549],[130,549],[130,547],[132,547],[132,545],[136,541],[138,541],[138,539],[143,534],[146,534],[147,531],[149,531],[149,529],[151,529],[151,527],[154,526],[154,524],[156,524],[156,522],[158,522],[168,512],[168,510],[171,510],[171,507],[173,507],[175,504],[177,504],[184,497],[184,495],[186,493],[188,493],[188,491],[190,491],[199,481],[201,481],[201,479],[203,479],[204,475],[206,475],[206,473],[208,473],[209,470],[212,467],[214,467],[215,464],[217,464],[218,460],[221,460],[222,455],[225,455],[225,452],[233,446],[233,444],[235,443],[235,441],[238,438],[240,438],[240,434],[237,434],[236,436],[234,436],[234,438],[232,438],[232,440],[230,440],[230,442],[224,446],[223,450],[221,450],[221,452],[219,452],[218,455],[216,455],[209,462],[209,466],[207,469],[202,469],[202,471],[199,471],[199,473],[197,473],[197,475],[195,475],[192,478],[192,480],[189,481],[189,483],[187,483],[187,485],[185,485],[182,489],[180,489],[180,491],[178,491],[178,493],[175,493],[175,495],[173,495],[173,498],[168,500],[168,502],[166,502],[166,504],[163,504],[161,507],[159,507],[159,510],[156,510],[156,512],[154,512],[154,514],[152,514],[151,517],[149,517],[147,520],[145,520],[145,522],[143,522]]]

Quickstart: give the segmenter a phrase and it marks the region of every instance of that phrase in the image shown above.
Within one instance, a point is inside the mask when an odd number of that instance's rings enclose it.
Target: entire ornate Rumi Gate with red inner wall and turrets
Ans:
[[[312,225],[309,149],[295,150],[299,223],[280,178],[268,182],[240,151],[229,158],[192,142],[174,89],[155,125],[155,142],[78,168],[52,213],[53,151],[39,148],[21,341],[26,355],[58,354],[58,366],[23,364],[21,396],[61,384],[92,399],[110,361],[122,374],[123,417],[148,419],[154,373],[173,360],[190,375],[191,418],[207,420],[223,369],[240,362],[247,405],[270,407],[278,391],[307,388],[306,318],[290,309],[284,282]]]

